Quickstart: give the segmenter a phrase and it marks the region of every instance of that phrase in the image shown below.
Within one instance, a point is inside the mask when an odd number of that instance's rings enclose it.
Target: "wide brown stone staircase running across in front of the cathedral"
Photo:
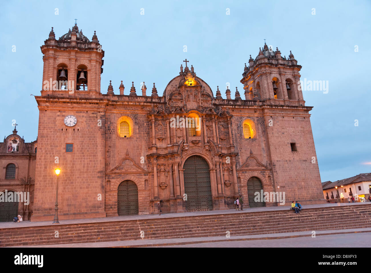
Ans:
[[[0,247],[42,244],[95,243],[141,239],[170,239],[274,234],[297,231],[371,227],[371,203],[291,210],[242,212],[203,216],[84,222],[0,228]],[[58,231],[58,237],[56,237]]]

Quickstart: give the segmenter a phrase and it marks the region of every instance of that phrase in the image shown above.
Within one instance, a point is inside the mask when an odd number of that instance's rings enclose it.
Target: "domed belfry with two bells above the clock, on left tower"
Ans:
[[[90,41],[77,24],[58,40],[52,30],[41,46],[42,96],[98,97],[101,94],[104,51],[96,33]]]

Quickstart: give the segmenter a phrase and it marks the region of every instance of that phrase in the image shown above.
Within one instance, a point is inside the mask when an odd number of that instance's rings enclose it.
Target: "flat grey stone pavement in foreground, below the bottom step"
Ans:
[[[316,231],[316,237],[321,236],[324,238],[324,235],[334,235],[339,236],[341,234],[354,234],[362,233],[366,235],[367,244],[370,240],[371,228],[353,228],[347,230],[323,230]],[[233,234],[232,234],[233,235]],[[37,245],[37,246],[22,246],[22,247],[160,247],[160,246],[178,246],[183,247],[210,247],[207,244],[219,243],[217,247],[229,247],[227,243],[231,241],[254,241],[249,243],[254,246],[259,246],[258,241],[262,240],[275,240],[275,239],[285,239],[285,238],[299,238],[299,237],[312,237],[311,231],[298,231],[298,232],[289,232],[289,233],[275,233],[275,234],[258,234],[258,235],[243,235],[243,236],[230,236],[229,238],[223,236],[218,237],[196,237],[196,238],[172,238],[172,239],[153,239],[153,240],[131,240],[131,241],[109,241],[109,242],[98,242],[98,243],[77,243],[77,244],[48,244],[48,245]],[[296,239],[295,239],[296,240]],[[338,242],[339,243],[339,242]],[[270,244],[269,242],[266,244]],[[243,245],[243,244],[240,244]],[[273,247],[273,246],[271,246]]]

